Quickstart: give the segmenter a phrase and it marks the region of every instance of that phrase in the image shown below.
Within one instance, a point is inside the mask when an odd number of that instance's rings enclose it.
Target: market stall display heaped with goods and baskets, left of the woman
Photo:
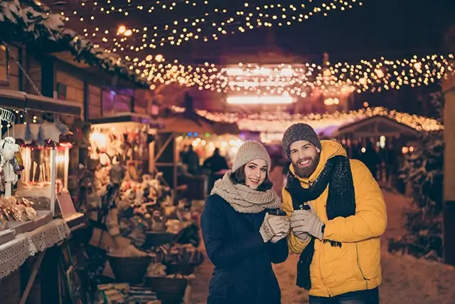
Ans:
[[[139,180],[120,174],[119,180],[114,174],[117,169],[122,171],[118,163],[112,165],[105,177],[108,181],[101,195],[99,220],[92,223],[95,230],[90,246],[102,251],[98,251],[98,257],[102,256],[98,296],[124,299],[127,293],[115,291],[124,288],[137,291],[134,296],[142,300],[180,303],[193,269],[202,262],[196,249],[198,227],[193,221],[197,214],[186,200],[173,204],[171,188],[161,173],[144,174]],[[143,282],[148,289],[134,289]],[[181,284],[172,289],[176,282]],[[178,302],[172,302],[178,297]]]

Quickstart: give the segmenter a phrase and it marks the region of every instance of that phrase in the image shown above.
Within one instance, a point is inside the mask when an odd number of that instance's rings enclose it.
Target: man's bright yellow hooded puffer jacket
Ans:
[[[304,188],[314,182],[326,161],[336,155],[346,156],[343,147],[334,140],[322,140],[321,159],[309,179],[300,179]],[[294,173],[294,167],[290,166]],[[314,257],[310,267],[311,290],[309,295],[332,297],[351,291],[373,289],[381,283],[380,236],[387,226],[387,212],[382,192],[365,164],[350,159],[355,188],[355,215],[328,221],[326,201],[328,189],[311,201],[319,218],[326,224],[324,239],[342,243],[340,247],[316,239]],[[283,208],[288,216],[293,211],[290,194],[283,189]],[[289,248],[301,253],[309,242],[301,242],[289,234]]]

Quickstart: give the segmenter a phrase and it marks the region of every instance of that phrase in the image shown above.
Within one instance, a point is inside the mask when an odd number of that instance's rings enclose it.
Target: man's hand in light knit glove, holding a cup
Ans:
[[[294,234],[302,241],[308,240],[306,234],[310,234],[322,241],[323,233],[322,226],[323,221],[311,210],[294,210],[291,216],[291,229]],[[302,239],[301,239],[302,238]]]

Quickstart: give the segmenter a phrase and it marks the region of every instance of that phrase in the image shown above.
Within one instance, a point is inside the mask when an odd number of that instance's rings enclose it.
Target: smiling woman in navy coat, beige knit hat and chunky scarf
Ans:
[[[290,224],[286,216],[267,213],[281,206],[269,169],[265,148],[247,141],[205,201],[200,226],[215,266],[208,304],[281,303],[272,263],[287,258]]]

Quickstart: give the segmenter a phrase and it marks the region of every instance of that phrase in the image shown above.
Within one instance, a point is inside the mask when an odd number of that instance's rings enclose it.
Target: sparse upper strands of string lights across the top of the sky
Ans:
[[[115,6],[107,1],[106,6],[98,4],[97,1],[90,2],[93,6],[89,7],[82,2],[79,9],[65,9],[66,11],[73,11],[73,15],[77,16],[80,22],[87,24],[87,19],[90,21],[96,19],[93,11],[98,11],[99,14],[113,15],[114,18],[121,18],[122,15],[129,16],[129,11],[137,10],[135,14],[143,16],[144,11],[153,13],[156,11],[157,5],[161,9],[173,10],[178,1],[171,3],[156,3],[147,9],[143,5],[132,6],[125,4],[123,6]],[[87,2],[89,3],[89,2]],[[196,6],[196,2],[185,1],[185,4]],[[204,1],[205,6],[209,6],[208,1]],[[129,29],[129,35],[116,32],[117,28],[109,28],[104,32],[101,38],[103,43],[109,43],[106,48],[117,48],[121,51],[143,51],[145,48],[156,48],[157,46],[164,46],[171,44],[180,46],[184,41],[191,39],[209,41],[218,40],[220,36],[228,33],[242,33],[257,27],[270,27],[270,26],[289,26],[292,23],[303,22],[311,16],[323,15],[328,16],[330,11],[352,9],[353,6],[361,6],[362,2],[358,0],[332,0],[323,4],[316,4],[316,1],[307,0],[305,4],[261,4],[254,5],[245,2],[241,7],[236,9],[220,9],[218,4],[210,5],[210,9],[201,12],[198,16],[181,17],[173,21],[160,21],[154,18],[154,22],[141,23],[141,26]],[[81,13],[78,12],[82,11]],[[65,11],[60,11],[60,14],[65,14]],[[117,16],[119,15],[119,16]],[[167,16],[167,14],[166,14]],[[141,19],[141,18],[138,18]],[[144,17],[146,19],[146,17]],[[68,19],[73,20],[73,19]],[[131,20],[131,19],[129,19]],[[99,30],[99,28],[98,28]],[[89,31],[84,29],[86,36],[97,36],[97,29]],[[126,32],[125,32],[126,33]],[[111,34],[111,36],[107,36]],[[114,36],[112,36],[115,34]],[[119,38],[121,36],[121,38]],[[114,47],[112,47],[114,43]]]

